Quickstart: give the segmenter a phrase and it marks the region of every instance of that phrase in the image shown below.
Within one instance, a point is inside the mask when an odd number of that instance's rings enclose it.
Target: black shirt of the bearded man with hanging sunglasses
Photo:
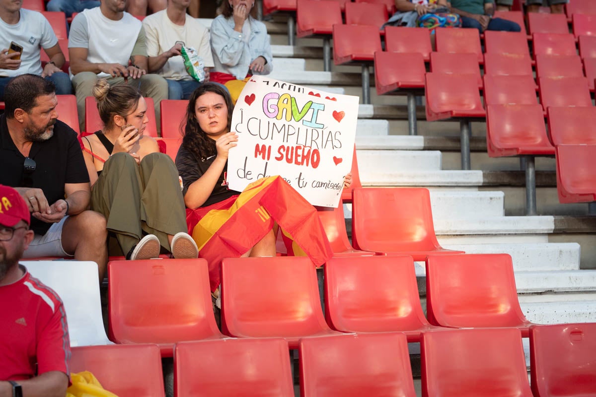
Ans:
[[[89,182],[77,134],[60,120],[54,125],[54,135],[50,139],[33,142],[29,157],[36,163],[31,174],[32,187],[42,189],[50,205],[64,198],[66,183]],[[23,187],[24,161],[8,133],[5,115],[0,116],[0,184]],[[50,223],[31,218],[31,229],[39,235],[45,235],[50,226]]]

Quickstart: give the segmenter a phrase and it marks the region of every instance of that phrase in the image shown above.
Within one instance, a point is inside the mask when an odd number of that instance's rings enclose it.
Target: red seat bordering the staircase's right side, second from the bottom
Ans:
[[[490,157],[554,155],[541,105],[489,105],[486,146]]]

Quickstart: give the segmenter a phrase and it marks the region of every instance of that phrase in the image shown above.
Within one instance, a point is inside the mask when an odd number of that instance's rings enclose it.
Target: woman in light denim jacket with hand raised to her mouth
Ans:
[[[224,0],[222,14],[211,24],[210,80],[225,85],[234,104],[249,76],[273,69],[267,28],[250,16],[253,6],[254,0]]]

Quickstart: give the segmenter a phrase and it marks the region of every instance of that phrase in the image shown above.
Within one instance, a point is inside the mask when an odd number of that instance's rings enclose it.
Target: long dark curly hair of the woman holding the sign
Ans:
[[[198,125],[197,117],[194,113],[194,107],[197,104],[197,99],[207,92],[213,92],[224,97],[226,107],[228,107],[228,131],[232,124],[232,98],[229,96],[228,90],[221,85],[215,83],[204,83],[194,90],[193,94],[188,100],[187,114],[185,118],[186,126],[184,127],[184,138],[182,138],[182,147],[195,155],[196,158],[204,161],[207,157],[218,154],[215,147],[215,140],[211,139],[207,134],[201,130]]]

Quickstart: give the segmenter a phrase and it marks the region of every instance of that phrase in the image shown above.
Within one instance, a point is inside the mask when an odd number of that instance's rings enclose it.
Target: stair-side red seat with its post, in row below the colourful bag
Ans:
[[[378,27],[333,25],[333,61],[362,65],[362,102],[370,104],[370,71],[374,53],[383,51]]]

